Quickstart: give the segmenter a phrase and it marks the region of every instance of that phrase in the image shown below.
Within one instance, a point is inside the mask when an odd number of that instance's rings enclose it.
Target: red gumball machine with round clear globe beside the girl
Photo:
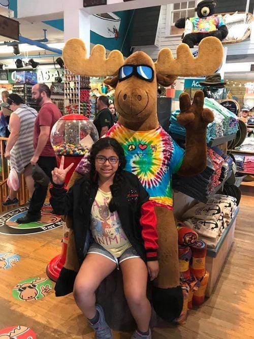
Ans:
[[[67,114],[55,123],[51,130],[50,138],[55,151],[57,166],[60,165],[62,156],[65,157],[64,168],[74,163],[74,166],[66,176],[65,183],[67,185],[80,160],[88,152],[91,145],[99,139],[97,129],[86,116]],[[66,261],[69,230],[65,222],[62,222],[62,224],[63,239],[61,254],[54,257],[46,269],[48,277],[53,281],[58,279],[60,270]]]

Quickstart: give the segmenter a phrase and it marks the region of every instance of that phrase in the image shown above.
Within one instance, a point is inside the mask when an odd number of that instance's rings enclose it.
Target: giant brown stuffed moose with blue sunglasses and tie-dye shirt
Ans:
[[[114,102],[119,119],[107,133],[117,139],[124,149],[126,170],[138,175],[154,202],[159,235],[158,261],[160,272],[153,282],[152,304],[158,316],[166,321],[176,319],[182,310],[183,297],[179,286],[178,235],[173,215],[172,174],[192,176],[206,167],[206,127],[213,120],[210,110],[203,108],[201,90],[193,103],[186,93],[180,96],[178,121],[186,129],[185,152],[160,126],[156,114],[157,83],[169,86],[176,76],[209,75],[216,71],[223,59],[223,47],[217,38],[201,41],[198,57],[194,57],[186,44],[177,47],[174,58],[169,48],[162,49],[157,61],[144,52],[137,51],[125,60],[120,51],[111,51],[106,58],[105,48],[96,45],[90,57],[82,40],[73,38],[63,48],[65,66],[83,76],[111,76],[106,84],[115,88]],[[84,157],[69,182],[87,171]],[[67,261],[56,283],[56,295],[72,292],[72,284],[81,262],[77,251],[79,239],[74,239],[70,227]],[[98,297],[105,310],[106,320],[112,328],[121,329],[121,319],[126,316],[120,305],[117,273],[104,281]],[[69,287],[67,287],[69,283]],[[112,287],[114,285],[114,287]],[[111,290],[110,290],[111,289]],[[115,298],[115,299],[114,299]],[[127,307],[127,306],[126,306]],[[117,318],[118,317],[118,318]],[[110,319],[113,318],[113,319]],[[117,318],[117,319],[116,319]],[[117,321],[118,320],[118,321]],[[124,320],[122,319],[124,322]],[[117,325],[116,325],[117,324]]]

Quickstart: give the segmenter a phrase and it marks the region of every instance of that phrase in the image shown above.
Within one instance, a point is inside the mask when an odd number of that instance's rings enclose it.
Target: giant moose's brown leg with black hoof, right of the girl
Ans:
[[[178,233],[173,211],[155,206],[158,230],[158,262],[160,271],[152,289],[153,308],[163,320],[178,318],[183,305],[179,286]]]

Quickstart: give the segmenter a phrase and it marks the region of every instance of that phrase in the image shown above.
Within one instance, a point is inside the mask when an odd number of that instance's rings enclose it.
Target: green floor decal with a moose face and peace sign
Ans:
[[[51,290],[52,283],[49,279],[35,276],[18,283],[12,290],[12,296],[17,300],[32,301],[45,297]]]

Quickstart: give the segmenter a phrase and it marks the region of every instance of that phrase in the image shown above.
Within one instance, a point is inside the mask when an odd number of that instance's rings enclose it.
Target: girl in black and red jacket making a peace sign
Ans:
[[[151,305],[146,297],[147,273],[158,274],[156,216],[138,178],[123,170],[125,157],[113,138],[101,138],[91,147],[90,172],[66,193],[64,157],[52,171],[51,205],[57,214],[72,218],[81,267],[74,283],[74,298],[97,338],[113,338],[95,292],[118,265],[123,290],[138,329],[133,339],[151,338]],[[88,234],[92,243],[85,250]],[[68,281],[68,279],[66,279]],[[57,285],[57,284],[56,284]],[[56,286],[57,288],[57,286]]]

